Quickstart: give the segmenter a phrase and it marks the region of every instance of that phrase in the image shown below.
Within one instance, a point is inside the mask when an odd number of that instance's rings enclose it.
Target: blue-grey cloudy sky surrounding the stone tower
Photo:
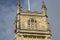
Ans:
[[[42,0],[30,0],[31,11],[41,11]],[[0,40],[14,40],[14,19],[17,0],[0,0]],[[53,40],[60,40],[60,0],[45,0]],[[27,0],[21,0],[27,10]]]

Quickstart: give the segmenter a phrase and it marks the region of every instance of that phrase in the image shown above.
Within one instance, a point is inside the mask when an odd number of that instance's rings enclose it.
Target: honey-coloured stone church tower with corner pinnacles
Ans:
[[[22,11],[20,0],[14,22],[14,40],[52,40],[49,28],[47,8],[42,2],[41,12]]]

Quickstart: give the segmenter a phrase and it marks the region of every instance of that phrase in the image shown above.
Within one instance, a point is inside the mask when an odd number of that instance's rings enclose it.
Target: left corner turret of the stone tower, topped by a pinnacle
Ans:
[[[21,13],[21,5],[20,5],[20,0],[18,0],[17,3],[17,15],[15,19],[15,33],[17,33],[20,30],[20,13]]]

